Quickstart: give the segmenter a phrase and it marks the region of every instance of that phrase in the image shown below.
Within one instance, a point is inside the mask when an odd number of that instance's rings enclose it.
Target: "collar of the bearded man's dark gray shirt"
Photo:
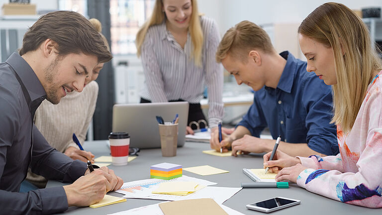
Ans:
[[[20,77],[25,88],[28,90],[32,102],[35,100],[41,100],[42,102],[46,98],[44,87],[42,87],[40,80],[38,80],[33,69],[24,58],[14,52],[5,62],[9,64]]]

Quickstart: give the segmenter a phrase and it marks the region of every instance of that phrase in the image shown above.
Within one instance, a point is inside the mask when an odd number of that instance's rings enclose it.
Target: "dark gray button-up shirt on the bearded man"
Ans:
[[[38,175],[62,182],[73,182],[86,171],[84,162],[52,148],[33,124],[45,97],[40,81],[20,55],[13,53],[0,63],[0,214],[52,214],[68,209],[63,187],[19,193],[29,166]]]

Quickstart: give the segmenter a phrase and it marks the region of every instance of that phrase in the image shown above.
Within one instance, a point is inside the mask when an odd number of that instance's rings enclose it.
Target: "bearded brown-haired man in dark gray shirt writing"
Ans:
[[[84,162],[53,149],[32,121],[44,99],[58,104],[66,92],[81,92],[95,65],[110,59],[84,16],[55,11],[29,28],[19,54],[0,63],[1,214],[52,214],[89,206],[122,186],[107,167],[90,173]],[[29,166],[47,179],[73,184],[19,193]]]

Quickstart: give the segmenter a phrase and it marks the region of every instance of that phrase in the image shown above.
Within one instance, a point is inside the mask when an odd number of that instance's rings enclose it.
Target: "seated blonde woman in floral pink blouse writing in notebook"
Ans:
[[[277,181],[296,182],[348,204],[382,208],[382,63],[368,28],[348,7],[331,2],[310,13],[298,33],[306,70],[332,85],[340,153],[293,158],[279,151],[276,161],[264,155],[264,166],[279,172]]]

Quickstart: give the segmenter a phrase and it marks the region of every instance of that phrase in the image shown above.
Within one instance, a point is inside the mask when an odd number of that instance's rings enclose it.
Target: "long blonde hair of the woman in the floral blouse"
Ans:
[[[367,26],[347,6],[329,2],[311,12],[298,33],[333,48],[337,84],[332,86],[331,122],[340,124],[343,132],[350,131],[375,71],[382,68]]]

